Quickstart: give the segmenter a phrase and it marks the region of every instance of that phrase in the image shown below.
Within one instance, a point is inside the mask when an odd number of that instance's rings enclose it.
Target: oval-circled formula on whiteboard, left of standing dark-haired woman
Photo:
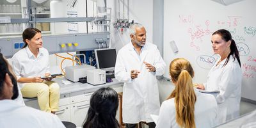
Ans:
[[[196,58],[197,65],[204,69],[211,69],[215,62],[216,60],[212,56],[201,55]]]

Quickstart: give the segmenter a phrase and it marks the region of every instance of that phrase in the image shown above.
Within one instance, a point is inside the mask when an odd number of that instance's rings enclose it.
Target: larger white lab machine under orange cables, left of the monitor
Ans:
[[[66,79],[77,82],[79,78],[86,77],[86,73],[88,70],[95,69],[95,67],[91,65],[76,65],[66,67]]]

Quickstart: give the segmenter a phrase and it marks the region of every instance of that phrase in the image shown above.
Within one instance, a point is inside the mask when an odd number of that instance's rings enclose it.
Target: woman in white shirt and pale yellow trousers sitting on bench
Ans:
[[[38,97],[42,111],[55,113],[58,111],[60,86],[51,79],[41,79],[50,76],[49,52],[43,47],[41,31],[27,28],[22,33],[24,47],[12,57],[13,71],[17,76],[23,97]]]

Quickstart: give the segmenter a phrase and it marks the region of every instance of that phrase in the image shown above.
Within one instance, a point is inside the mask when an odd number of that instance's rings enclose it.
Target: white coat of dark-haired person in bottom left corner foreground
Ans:
[[[15,100],[0,100],[0,106],[1,128],[65,128],[58,116],[22,106]]]

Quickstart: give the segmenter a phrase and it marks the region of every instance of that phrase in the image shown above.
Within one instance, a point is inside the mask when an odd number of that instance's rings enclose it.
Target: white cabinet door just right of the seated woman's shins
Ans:
[[[61,121],[70,122],[70,105],[60,106],[59,110],[56,111],[56,115],[60,118]]]

